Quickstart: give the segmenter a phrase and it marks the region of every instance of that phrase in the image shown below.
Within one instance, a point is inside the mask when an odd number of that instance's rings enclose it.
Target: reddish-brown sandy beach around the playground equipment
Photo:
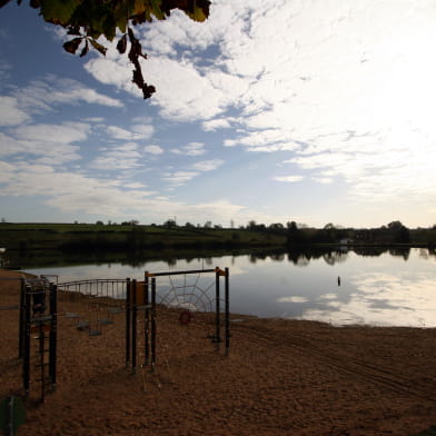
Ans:
[[[0,280],[0,306],[18,304],[18,285]],[[410,436],[436,424],[436,329],[231,319],[225,356],[210,316],[184,326],[159,308],[155,371],[132,375],[122,314],[96,337],[60,316],[57,388],[39,402],[31,375],[18,435]],[[17,309],[0,310],[0,398],[22,395]]]

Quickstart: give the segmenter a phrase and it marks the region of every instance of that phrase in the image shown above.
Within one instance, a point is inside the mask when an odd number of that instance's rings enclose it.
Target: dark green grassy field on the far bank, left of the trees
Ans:
[[[286,235],[140,225],[0,224],[0,247],[30,250],[231,249],[284,247]]]

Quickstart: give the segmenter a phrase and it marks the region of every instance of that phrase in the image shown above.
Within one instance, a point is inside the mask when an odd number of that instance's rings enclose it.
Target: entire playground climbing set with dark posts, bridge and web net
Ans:
[[[204,277],[207,277],[208,281],[205,281]],[[220,287],[222,277],[224,295]],[[176,314],[180,330],[188,331],[192,319],[215,310],[214,333],[207,337],[216,345],[217,353],[225,343],[225,355],[229,354],[228,268],[146,271],[143,281],[126,278],[59,284],[57,276],[21,277],[16,280],[20,280],[21,285],[20,304],[2,306],[0,309],[19,309],[18,357],[22,361],[22,386],[28,395],[32,383],[40,384],[41,400],[44,400],[49,387],[51,390],[56,389],[57,331],[60,316],[72,319],[77,329],[87,331],[90,336],[99,336],[105,325],[113,324],[117,314],[123,314],[126,367],[130,368],[132,374],[137,369],[138,351],[143,356],[141,368],[156,367],[158,314],[162,317]],[[166,311],[164,307],[170,310]],[[207,319],[211,325],[212,317],[202,319]],[[171,325],[174,331],[177,331],[177,325]],[[181,339],[189,340],[189,337],[185,335]],[[165,355],[168,344],[162,343],[164,340],[160,341],[159,349]],[[177,347],[179,346],[177,344]],[[179,349],[177,347],[176,349]],[[169,368],[166,356],[162,356],[162,361],[166,361]]]

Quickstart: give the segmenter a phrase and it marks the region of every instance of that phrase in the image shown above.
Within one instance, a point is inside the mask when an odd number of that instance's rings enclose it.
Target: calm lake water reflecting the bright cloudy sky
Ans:
[[[234,314],[334,325],[436,327],[436,256],[427,249],[373,250],[369,256],[354,251],[222,256],[136,262],[135,267],[110,264],[29,271],[58,275],[62,283],[91,278],[141,279],[146,270],[162,272],[216,266],[229,268]],[[207,280],[212,279],[207,276],[192,275],[188,279],[181,276],[179,280],[189,286],[197,280],[206,289],[210,286]]]

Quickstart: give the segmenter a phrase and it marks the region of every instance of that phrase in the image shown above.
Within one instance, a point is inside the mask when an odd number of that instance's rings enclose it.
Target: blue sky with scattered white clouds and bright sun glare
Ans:
[[[0,9],[0,217],[222,227],[436,224],[434,0],[216,0],[67,53]]]

